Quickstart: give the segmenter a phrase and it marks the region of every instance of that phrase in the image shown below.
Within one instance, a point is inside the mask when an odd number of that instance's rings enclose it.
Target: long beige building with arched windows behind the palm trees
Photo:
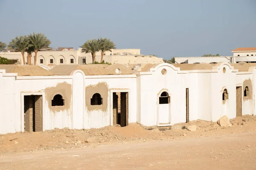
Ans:
[[[22,55],[20,52],[0,52],[1,57],[5,57],[13,61],[13,64],[23,64]],[[27,53],[25,53],[25,62],[27,63]],[[32,53],[32,58],[35,53]],[[162,63],[163,59],[140,54],[140,49],[113,49],[106,51],[103,57],[105,62],[111,64],[157,64]],[[96,53],[96,61],[100,62],[101,53]],[[90,53],[82,53],[81,48],[75,50],[74,48],[58,48],[58,50],[51,51],[39,51],[37,55],[37,65],[51,68],[54,65],[72,65],[72,64],[91,64],[93,62],[92,55]],[[32,59],[34,64],[34,59]]]

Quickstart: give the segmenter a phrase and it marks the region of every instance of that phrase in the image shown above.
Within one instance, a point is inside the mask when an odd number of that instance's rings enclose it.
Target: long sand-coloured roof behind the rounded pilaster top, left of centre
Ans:
[[[116,74],[116,69],[121,71],[120,74],[132,74],[131,68],[122,64],[56,65],[49,71],[55,75],[70,75],[75,70],[81,70],[85,75],[110,75]]]

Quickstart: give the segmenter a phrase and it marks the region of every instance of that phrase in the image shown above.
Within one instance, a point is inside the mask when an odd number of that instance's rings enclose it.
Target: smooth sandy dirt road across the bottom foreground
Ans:
[[[255,170],[256,132],[41,153],[6,153],[8,170]]]

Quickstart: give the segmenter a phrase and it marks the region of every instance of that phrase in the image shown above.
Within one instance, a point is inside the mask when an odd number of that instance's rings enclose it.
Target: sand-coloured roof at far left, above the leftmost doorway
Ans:
[[[0,65],[6,73],[17,73],[18,76],[53,76],[51,72],[38,65]]]

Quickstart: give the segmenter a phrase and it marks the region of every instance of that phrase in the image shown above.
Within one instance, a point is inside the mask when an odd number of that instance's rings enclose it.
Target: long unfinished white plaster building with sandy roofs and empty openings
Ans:
[[[0,134],[253,115],[254,77],[256,64],[243,62],[0,65]]]

